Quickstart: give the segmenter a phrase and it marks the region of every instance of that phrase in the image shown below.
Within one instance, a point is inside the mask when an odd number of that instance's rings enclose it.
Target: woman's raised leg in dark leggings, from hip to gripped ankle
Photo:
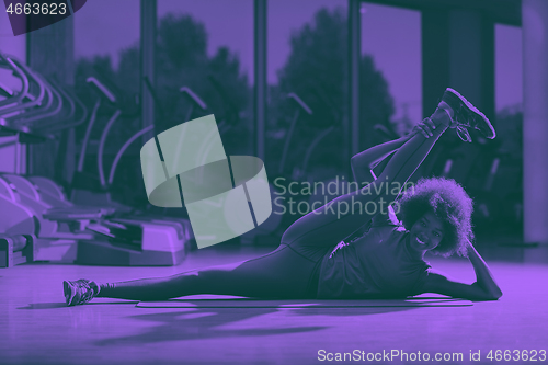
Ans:
[[[437,109],[431,119],[436,126],[432,137],[415,134],[392,156],[376,182],[307,214],[286,230],[282,242],[292,246],[297,242],[299,246],[334,244],[362,227],[370,216],[387,210],[388,204],[397,197],[452,123],[442,109]],[[400,187],[396,189],[396,194],[395,186]]]

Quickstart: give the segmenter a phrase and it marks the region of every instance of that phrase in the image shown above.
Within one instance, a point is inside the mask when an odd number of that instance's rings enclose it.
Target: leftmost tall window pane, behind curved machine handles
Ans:
[[[140,3],[135,0],[93,0],[88,1],[75,16],[75,58],[76,93],[89,112],[89,119],[76,129],[77,173],[72,180],[75,187],[95,190],[100,183],[107,182],[111,166],[118,150],[140,128],[139,111],[135,98],[139,93],[139,38]],[[117,96],[111,104],[89,82],[94,77]],[[93,114],[94,105],[101,100],[101,106]],[[100,140],[107,122],[122,110],[104,139],[104,153],[98,162]],[[94,118],[92,117],[94,116]],[[87,144],[84,136],[88,125],[93,123]],[[85,146],[85,149],[82,149]],[[142,178],[139,169],[138,144],[133,144],[122,156],[113,175],[110,191],[113,199],[128,205],[146,199]],[[81,153],[84,150],[85,153]],[[83,155],[83,163],[80,157]],[[101,173],[104,181],[101,181]],[[142,198],[145,196],[145,199]]]

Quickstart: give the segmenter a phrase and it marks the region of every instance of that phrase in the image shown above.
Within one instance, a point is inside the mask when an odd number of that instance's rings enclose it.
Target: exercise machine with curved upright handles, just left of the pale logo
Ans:
[[[117,106],[117,98],[102,82],[92,77],[88,78],[87,81],[100,91],[101,96]],[[96,117],[100,101],[95,103],[92,118],[88,124],[84,141],[82,142],[82,152],[79,159],[79,172],[83,170],[85,148],[89,142],[89,136]],[[122,261],[129,265],[165,264],[165,262],[172,261],[170,264],[176,264],[184,258],[184,253],[187,249],[186,242],[192,240],[190,223],[185,219],[137,216],[139,213],[111,198],[110,186],[114,181],[116,168],[123,153],[135,140],[146,133],[151,132],[153,128],[153,126],[148,126],[134,134],[116,153],[110,173],[106,175],[103,162],[106,138],[112,126],[122,114],[122,110],[116,109],[104,127],[99,141],[98,172],[100,192],[89,192],[80,189],[72,190],[72,199],[75,202],[83,202],[115,209],[115,217],[110,217],[107,220],[100,220],[89,225],[88,229],[109,237],[111,243],[116,242],[117,247],[113,248],[109,244],[80,241],[78,261],[84,263],[101,262],[102,264],[116,264]],[[140,252],[137,252],[135,250],[136,248],[138,248]]]

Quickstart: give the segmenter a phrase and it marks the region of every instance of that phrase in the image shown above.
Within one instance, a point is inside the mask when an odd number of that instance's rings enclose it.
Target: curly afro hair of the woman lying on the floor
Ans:
[[[467,255],[468,241],[473,241],[472,199],[455,180],[421,179],[398,203],[397,217],[407,230],[429,210],[442,219],[445,235],[432,253],[444,258],[454,253]]]

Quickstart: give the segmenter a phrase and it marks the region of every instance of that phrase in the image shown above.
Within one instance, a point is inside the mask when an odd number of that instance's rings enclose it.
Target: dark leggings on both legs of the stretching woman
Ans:
[[[450,122],[446,112],[439,109],[431,119],[436,126],[434,135],[430,138],[420,133],[412,136],[392,156],[377,182],[388,183],[389,186],[392,183],[406,184]],[[370,193],[362,194],[365,189],[369,189]],[[338,207],[344,204],[352,207],[356,202],[364,207],[366,204],[378,204],[381,198],[390,202],[396,196],[387,195],[385,189],[377,193],[370,185],[362,187],[328,203],[334,209],[323,206],[295,221],[285,231],[279,247],[267,254],[168,277],[103,284],[99,296],[137,300],[164,300],[194,294],[313,298],[323,255],[370,218],[352,214],[351,209],[343,214]]]

